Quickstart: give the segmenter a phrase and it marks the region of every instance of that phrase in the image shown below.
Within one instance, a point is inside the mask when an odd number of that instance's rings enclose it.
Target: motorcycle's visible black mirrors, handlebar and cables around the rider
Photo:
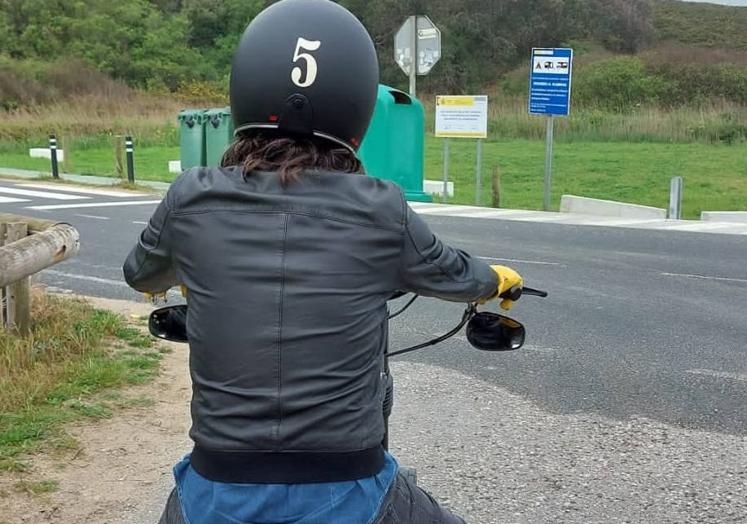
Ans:
[[[390,300],[399,299],[406,295],[407,293],[396,293]],[[522,295],[544,298],[548,296],[548,293],[528,287],[514,287],[501,295],[500,298],[515,301],[521,298]],[[402,308],[394,313],[390,313],[389,320],[407,311],[418,298],[418,295],[414,295]],[[385,424],[384,440],[382,442],[384,449],[389,449],[389,416],[394,407],[394,378],[389,368],[389,360],[393,357],[440,344],[458,334],[465,326],[467,340],[470,345],[481,351],[515,351],[520,349],[526,340],[526,329],[522,323],[505,315],[488,311],[478,311],[478,305],[471,303],[467,304],[459,324],[440,337],[397,351],[389,351],[387,349],[384,354],[385,365],[382,374],[382,381],[386,387],[382,406]],[[187,305],[166,306],[152,311],[148,320],[148,330],[151,335],[160,339],[180,343],[189,342],[187,337]],[[415,469],[400,467],[400,473],[411,480],[413,484],[417,483]]]

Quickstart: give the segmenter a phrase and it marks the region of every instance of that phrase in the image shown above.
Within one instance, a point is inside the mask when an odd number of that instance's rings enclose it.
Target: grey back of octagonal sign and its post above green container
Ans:
[[[424,15],[411,16],[394,37],[394,61],[410,77],[410,95],[417,92],[417,77],[430,73],[441,59],[441,31]]]

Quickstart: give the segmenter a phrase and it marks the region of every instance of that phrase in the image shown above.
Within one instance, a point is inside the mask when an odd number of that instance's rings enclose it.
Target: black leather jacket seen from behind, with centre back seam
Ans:
[[[441,243],[393,183],[197,168],[124,264],[139,291],[189,289],[192,465],[222,482],[323,482],[383,464],[381,373],[396,290],[468,302],[484,262]]]

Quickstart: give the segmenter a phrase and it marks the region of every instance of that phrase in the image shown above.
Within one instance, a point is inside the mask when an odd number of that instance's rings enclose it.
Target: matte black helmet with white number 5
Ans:
[[[231,69],[235,132],[277,129],[356,151],[379,84],[366,29],[330,0],[282,0],[244,31]]]

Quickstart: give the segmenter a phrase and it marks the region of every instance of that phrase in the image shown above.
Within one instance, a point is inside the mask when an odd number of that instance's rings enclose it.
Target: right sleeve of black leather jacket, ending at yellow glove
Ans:
[[[405,207],[402,289],[453,302],[495,294],[495,273],[482,260],[441,242],[410,206]]]

